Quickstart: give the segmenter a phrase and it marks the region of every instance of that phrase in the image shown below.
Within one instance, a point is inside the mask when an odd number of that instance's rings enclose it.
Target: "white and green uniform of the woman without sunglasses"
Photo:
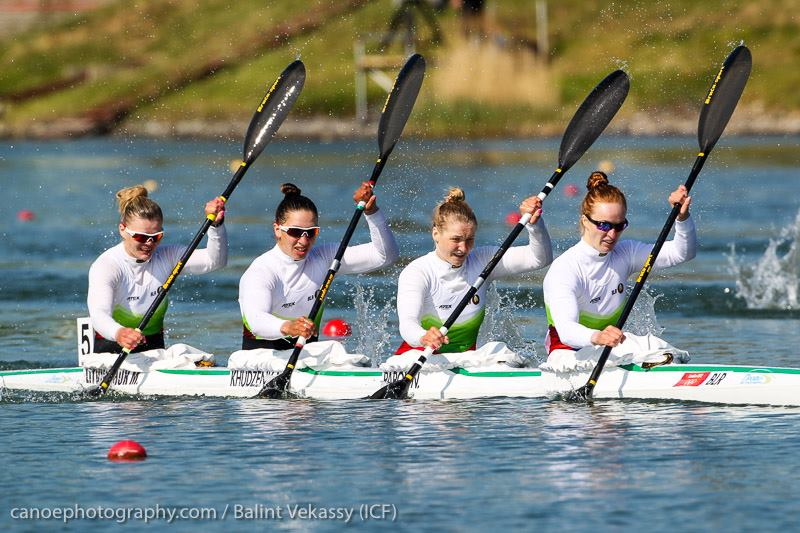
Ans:
[[[542,268],[553,260],[550,235],[540,219],[528,224],[527,246],[509,248],[492,271],[489,279],[481,285],[448,330],[449,344],[442,345],[437,352],[464,352],[474,349],[478,330],[486,313],[486,287],[488,282]],[[450,263],[432,251],[415,259],[403,269],[397,282],[397,316],[400,320],[400,335],[403,344],[395,353],[421,347],[420,340],[431,328],[439,328],[452,310],[464,297],[478,276],[492,259],[497,246],[474,248],[460,267]]]

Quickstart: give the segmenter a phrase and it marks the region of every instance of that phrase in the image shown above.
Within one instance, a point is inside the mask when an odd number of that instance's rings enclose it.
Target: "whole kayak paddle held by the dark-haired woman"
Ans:
[[[378,177],[380,177],[383,167],[386,165],[389,154],[392,153],[395,144],[397,144],[397,141],[400,139],[400,134],[403,132],[408,117],[411,115],[414,102],[417,100],[417,95],[422,87],[424,76],[425,59],[419,54],[414,54],[408,58],[408,61],[406,61],[406,64],[400,70],[400,74],[397,75],[394,87],[392,87],[389,96],[386,98],[386,103],[381,113],[381,120],[378,124],[378,147],[380,149],[380,155],[378,156],[378,161],[375,163],[375,167],[372,169],[372,176],[369,179],[371,185],[375,185],[378,181]],[[322,309],[325,296],[328,294],[328,289],[330,289],[336,272],[339,271],[342,257],[344,257],[344,252],[347,250],[347,245],[350,242],[350,238],[353,236],[353,232],[361,218],[365,205],[366,202],[361,201],[356,206],[353,217],[350,219],[350,225],[347,227],[347,231],[345,231],[333,261],[331,261],[328,273],[316,293],[314,305],[308,313],[308,317],[312,322],[316,321],[317,314],[320,309]],[[286,368],[264,385],[256,395],[256,398],[280,398],[286,394],[292,372],[294,371],[297,359],[300,357],[300,352],[303,350],[305,344],[305,337],[297,338],[294,350],[292,350],[292,355],[289,356],[289,360],[286,363]]]

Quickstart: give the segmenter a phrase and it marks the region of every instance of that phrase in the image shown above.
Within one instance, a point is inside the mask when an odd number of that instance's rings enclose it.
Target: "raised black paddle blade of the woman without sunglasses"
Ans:
[[[622,107],[630,86],[628,75],[615,70],[592,89],[575,112],[561,140],[558,167],[562,172],[572,167],[603,133]]]

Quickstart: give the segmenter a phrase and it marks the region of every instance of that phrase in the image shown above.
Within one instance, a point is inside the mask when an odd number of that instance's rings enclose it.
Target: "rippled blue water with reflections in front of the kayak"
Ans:
[[[798,409],[637,401],[24,403],[0,410],[0,460],[26,479],[4,489],[11,505],[388,502],[400,525],[431,530],[630,527],[642,509],[702,523],[714,509],[715,525],[748,529],[764,505],[793,505],[799,422]],[[126,438],[148,459],[107,461]]]

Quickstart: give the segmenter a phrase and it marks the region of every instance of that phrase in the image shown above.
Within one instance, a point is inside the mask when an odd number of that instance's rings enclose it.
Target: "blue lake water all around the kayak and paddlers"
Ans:
[[[348,348],[380,361],[399,343],[394,283],[432,249],[430,212],[448,186],[465,189],[480,221],[478,244],[498,244],[510,229],[506,214],[555,168],[558,143],[401,140],[376,188],[401,260],[338,276],[329,295],[326,320],[353,325]],[[155,180],[166,242],[188,243],[240,150],[238,142],[123,139],[0,147],[0,369],[75,364],[89,265],[118,239],[115,191]],[[692,138],[602,138],[546,200],[556,253],[577,239],[583,186],[601,161],[614,163],[612,182],[628,196],[626,236],[652,241],[669,213],[667,194],[696,152]],[[268,146],[229,202],[228,267],[173,286],[168,341],[224,362],[241,342],[238,280],[272,246],[280,184],[292,181],[317,199],[320,241],[338,242],[351,192],[376,157],[374,141]],[[698,256],[651,276],[631,325],[663,328],[693,362],[800,366],[798,163],[798,138],[723,138],[692,191]],[[565,194],[569,185],[577,196]],[[21,220],[24,210],[35,218]],[[362,223],[354,242],[365,238]],[[483,339],[543,355],[542,276],[497,284]],[[140,529],[137,512],[162,513],[149,526],[164,527],[170,511],[181,511],[176,531],[332,530],[348,512],[351,527],[415,531],[786,530],[798,519],[798,424],[798,409],[670,402],[4,394],[0,527],[60,528],[52,515],[65,512],[80,517],[70,529],[123,520]],[[150,457],[110,463],[108,448],[128,438]]]

